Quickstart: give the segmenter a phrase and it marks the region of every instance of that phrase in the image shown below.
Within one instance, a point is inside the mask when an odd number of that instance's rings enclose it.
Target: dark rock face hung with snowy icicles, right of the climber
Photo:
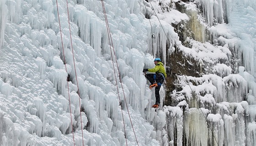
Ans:
[[[255,4],[248,5],[250,7]],[[208,3],[203,0],[182,0],[176,2],[174,7],[187,14],[189,19],[172,24],[181,44],[188,49],[184,51],[181,47],[174,46],[176,50],[166,56],[168,77],[165,105],[179,106],[182,111],[182,114],[174,115],[175,110],[167,108],[170,112],[166,112],[165,129],[172,141],[171,145],[245,146],[254,143],[251,141],[255,141],[255,137],[248,132],[248,128],[255,124],[255,118],[251,120],[255,114],[246,114],[250,112],[248,109],[256,110],[253,103],[256,101],[255,94],[254,98],[251,96],[251,89],[256,89],[255,77],[252,77],[254,71],[250,71],[254,67],[247,68],[252,75],[244,70],[246,60],[242,57],[243,53],[240,54],[243,46],[238,45],[239,41],[231,43],[231,40],[239,40],[236,35],[233,37],[215,33],[215,29],[221,29],[220,24],[226,26],[224,23],[232,20],[229,1],[215,0]],[[216,49],[222,47],[221,51],[225,52],[226,57],[201,60],[200,55],[203,54],[197,48],[201,45],[208,50],[209,44]],[[248,51],[252,50],[248,48]],[[196,55],[193,55],[193,51]],[[247,51],[243,52],[247,54]],[[244,73],[248,76],[243,76]],[[180,131],[183,131],[182,134]],[[230,137],[241,141],[233,141]]]

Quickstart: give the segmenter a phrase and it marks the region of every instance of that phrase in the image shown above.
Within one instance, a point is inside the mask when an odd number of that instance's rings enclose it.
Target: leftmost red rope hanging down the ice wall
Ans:
[[[58,0],[56,0],[56,5],[57,5],[58,18],[59,18]],[[60,27],[60,20],[59,20],[59,30],[60,30],[61,45],[62,45],[63,56],[64,56],[64,64],[65,64],[65,69],[67,72],[67,65],[66,65],[65,54],[64,54],[64,46],[63,46],[62,33],[61,33],[61,27]],[[68,83],[68,92],[69,92],[69,81],[68,80],[67,80],[67,83]],[[72,112],[71,112],[71,105],[70,105],[70,95],[69,95],[69,109],[70,109],[70,119],[71,119],[73,142],[74,142],[74,146],[75,146],[75,137],[74,137],[74,130],[73,130],[73,122],[72,122]]]

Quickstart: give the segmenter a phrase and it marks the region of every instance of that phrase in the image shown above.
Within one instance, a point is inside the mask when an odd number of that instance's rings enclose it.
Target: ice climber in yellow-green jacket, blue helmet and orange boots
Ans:
[[[151,83],[149,88],[152,89],[153,87],[155,87],[155,105],[153,105],[152,107],[158,108],[160,104],[159,91],[163,82],[165,81],[166,73],[165,73],[165,67],[161,62],[160,58],[155,58],[154,64],[155,64],[155,68],[143,69],[143,72],[145,73],[145,77]],[[155,74],[146,74],[146,71],[155,72]]]

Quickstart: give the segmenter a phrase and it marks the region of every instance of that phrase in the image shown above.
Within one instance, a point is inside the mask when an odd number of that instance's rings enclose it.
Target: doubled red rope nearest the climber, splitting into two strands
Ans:
[[[111,50],[111,44],[112,44],[112,48],[113,48],[115,60],[116,60],[116,62],[117,62],[117,56],[116,56],[116,53],[115,53],[115,50],[114,50],[114,45],[113,45],[112,36],[111,36],[111,33],[110,33],[108,21],[107,21],[107,14],[106,14],[106,10],[105,10],[105,6],[104,6],[104,3],[103,3],[103,0],[101,0],[101,3],[102,3],[102,7],[103,7],[103,12],[104,12],[104,15],[105,15],[106,25],[107,25],[107,33],[108,33],[108,40],[109,40],[110,50]],[[111,44],[110,44],[110,40],[111,40]],[[112,56],[112,50],[111,50],[111,56]],[[113,60],[113,56],[112,56],[112,60]],[[112,62],[113,62],[113,61],[112,61]],[[113,63],[113,69],[114,69],[114,73],[115,73],[114,63]],[[121,76],[120,76],[120,71],[119,71],[118,63],[117,63],[117,70],[118,70],[118,74],[119,74],[119,81],[120,81],[120,83],[121,83],[122,90],[123,90],[123,83],[122,83],[122,80],[121,80]],[[116,74],[115,74],[115,78],[116,78],[116,82],[117,82]],[[121,101],[121,100],[120,100],[120,96],[119,96],[118,86],[117,86],[117,92],[118,92],[119,101]],[[131,120],[131,116],[130,116],[130,113],[129,113],[129,110],[128,110],[128,106],[127,106],[127,101],[126,101],[126,98],[125,98],[124,90],[123,90],[123,97],[124,97],[125,105],[126,105],[126,108],[127,108],[127,111],[128,111],[129,119],[130,119],[130,122],[131,122],[131,125],[132,125],[132,128],[133,128],[133,122],[132,122],[132,120]],[[123,110],[121,110],[121,111],[122,111],[122,116],[123,116]],[[123,124],[124,124],[124,119],[123,119]],[[124,130],[125,130],[125,126],[124,126]],[[137,141],[137,144],[138,144],[138,146],[139,146],[139,142],[138,142],[138,140],[137,140],[137,137],[136,137],[134,128],[133,128],[133,133],[134,133],[135,139],[136,139],[136,141]],[[126,145],[127,145],[127,140],[126,140]]]

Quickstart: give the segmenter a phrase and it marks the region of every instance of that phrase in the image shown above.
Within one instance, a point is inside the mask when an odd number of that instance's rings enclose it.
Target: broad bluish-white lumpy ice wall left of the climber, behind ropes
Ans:
[[[0,145],[166,145],[142,72],[166,50],[157,19],[151,48],[142,1],[104,0],[110,48],[101,1],[66,2],[0,1]]]

